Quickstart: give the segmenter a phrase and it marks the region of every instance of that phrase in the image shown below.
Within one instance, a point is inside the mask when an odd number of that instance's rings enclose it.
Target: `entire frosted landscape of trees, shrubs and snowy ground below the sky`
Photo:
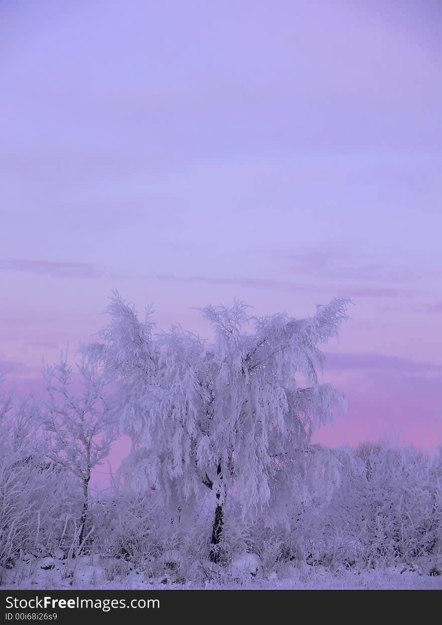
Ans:
[[[311,443],[345,403],[317,369],[349,303],[207,306],[205,344],[115,293],[76,369],[44,368],[44,406],[2,404],[1,583],[441,588],[441,447]],[[121,434],[130,453],[92,496]]]

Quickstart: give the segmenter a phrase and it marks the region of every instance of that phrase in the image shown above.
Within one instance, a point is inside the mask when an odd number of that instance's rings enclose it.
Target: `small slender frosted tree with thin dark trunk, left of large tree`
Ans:
[[[89,481],[94,467],[109,455],[117,438],[115,407],[106,394],[106,379],[93,354],[82,351],[77,375],[67,364],[67,355],[58,364],[43,369],[49,399],[45,424],[51,432],[49,457],[79,478],[82,485],[82,512],[78,543],[82,547],[89,507]],[[74,382],[75,377],[75,382]],[[78,392],[73,392],[74,383]]]

